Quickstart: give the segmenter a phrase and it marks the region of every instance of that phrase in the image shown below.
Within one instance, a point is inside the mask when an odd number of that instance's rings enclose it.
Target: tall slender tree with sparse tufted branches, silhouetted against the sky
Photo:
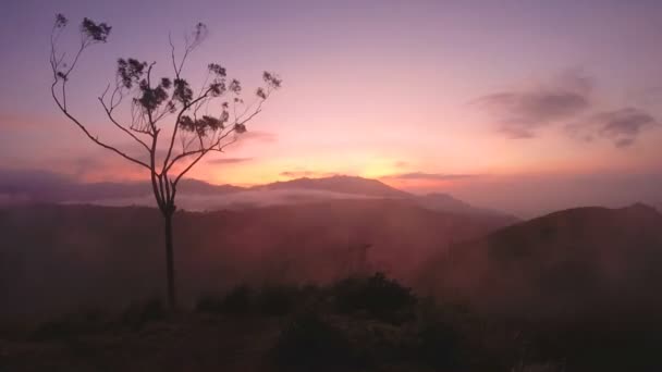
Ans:
[[[262,103],[280,88],[281,79],[265,72],[265,86],[256,90],[250,102],[244,102],[240,82],[229,79],[220,64],[210,63],[203,86],[194,91],[182,72],[191,53],[207,36],[207,27],[203,23],[185,37],[180,55],[169,37],[171,76],[155,78],[152,67],[156,62],[119,59],[114,82],[106,87],[98,101],[110,124],[145,151],[144,157],[135,157],[90,133],[68,106],[68,83],[81,57],[89,47],[105,44],[111,30],[106,23],[84,18],[78,29],[81,44],[73,58],[64,62],[65,53],[59,52],[57,46],[68,23],[62,14],[58,14],[51,33],[53,100],[93,142],[149,172],[154,196],[164,221],[168,301],[171,308],[175,308],[172,216],[176,210],[177,184],[206,154],[223,152],[246,132],[246,123],[261,112]],[[118,114],[120,107],[126,109],[124,121]],[[216,113],[211,113],[214,110]]]

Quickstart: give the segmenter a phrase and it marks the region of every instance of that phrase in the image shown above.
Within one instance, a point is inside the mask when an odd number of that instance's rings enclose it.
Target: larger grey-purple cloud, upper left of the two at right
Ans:
[[[489,111],[501,133],[511,138],[532,138],[542,127],[565,121],[590,108],[593,83],[580,72],[568,72],[535,89],[482,96],[475,104]]]

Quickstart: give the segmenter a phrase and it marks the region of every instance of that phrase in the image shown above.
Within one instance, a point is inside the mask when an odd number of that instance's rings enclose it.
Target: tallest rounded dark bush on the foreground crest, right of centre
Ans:
[[[350,277],[332,288],[336,310],[365,313],[377,320],[402,323],[413,314],[407,312],[417,302],[412,289],[389,280],[383,273],[369,277]]]

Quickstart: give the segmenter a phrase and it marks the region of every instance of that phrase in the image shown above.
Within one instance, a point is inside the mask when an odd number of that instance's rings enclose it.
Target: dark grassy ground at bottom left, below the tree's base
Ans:
[[[0,342],[2,371],[265,371],[275,319],[181,315],[140,330]]]

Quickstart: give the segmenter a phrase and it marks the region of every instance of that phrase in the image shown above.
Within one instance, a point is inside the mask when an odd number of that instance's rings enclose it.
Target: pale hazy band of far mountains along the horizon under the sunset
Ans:
[[[7,172],[0,181],[0,204],[16,202],[94,203],[100,206],[154,206],[151,185],[134,183],[77,183],[48,172]],[[512,215],[475,208],[445,194],[417,196],[377,179],[336,175],[297,178],[253,187],[211,185],[183,179],[179,187],[181,209],[192,211],[245,209],[322,200],[390,198],[408,200],[419,207],[458,214],[491,215],[510,223]]]

